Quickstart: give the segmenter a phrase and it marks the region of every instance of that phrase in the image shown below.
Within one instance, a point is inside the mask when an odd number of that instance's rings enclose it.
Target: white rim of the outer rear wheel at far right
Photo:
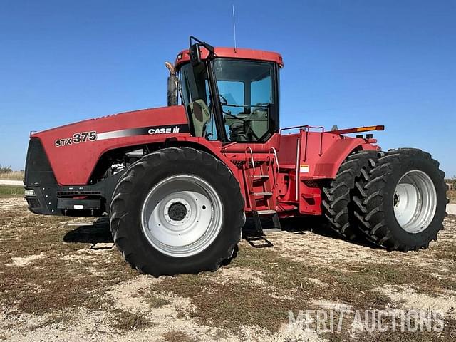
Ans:
[[[423,171],[405,173],[395,187],[393,204],[396,220],[405,232],[423,232],[437,209],[434,183]]]

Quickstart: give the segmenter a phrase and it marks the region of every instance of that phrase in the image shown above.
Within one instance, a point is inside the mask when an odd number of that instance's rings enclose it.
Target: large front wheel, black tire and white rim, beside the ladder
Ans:
[[[118,182],[110,228],[142,273],[214,271],[232,257],[244,199],[226,165],[206,152],[167,148],[142,157]]]

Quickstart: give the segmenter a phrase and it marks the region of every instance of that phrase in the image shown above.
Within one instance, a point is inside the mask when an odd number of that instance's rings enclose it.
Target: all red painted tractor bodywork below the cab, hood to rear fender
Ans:
[[[164,142],[175,138],[175,145],[191,146],[209,150],[232,170],[246,199],[246,211],[252,210],[252,198],[249,192],[261,192],[255,185],[249,187],[249,180],[242,163],[269,162],[275,164],[274,150],[277,151],[280,172],[276,166],[269,167],[268,173],[274,180],[274,198],[276,208],[269,208],[267,202],[259,201],[258,210],[276,209],[281,216],[293,214],[321,214],[321,187],[309,180],[326,180],[336,177],[341,162],[353,150],[378,150],[379,147],[363,138],[350,138],[331,132],[314,131],[311,128],[299,130],[299,133],[280,135],[276,133],[265,143],[231,143],[222,145],[218,141],[192,137],[190,133],[135,135],[106,140],[95,140],[76,145],[56,147],[58,139],[71,138],[74,133],[95,130],[98,134],[131,128],[154,127],[160,125],[179,125],[187,123],[185,108],[182,106],[136,110],[128,113],[110,115],[103,118],[65,125],[52,130],[35,133],[43,142],[53,172],[59,185],[86,185],[95,166],[103,153],[120,147],[140,147],[144,144]],[[239,164],[239,162],[242,162]],[[305,166],[302,172],[300,166]],[[274,169],[274,170],[273,170]],[[254,174],[260,175],[259,167]],[[296,187],[297,183],[297,187]],[[297,192],[296,192],[297,189]]]

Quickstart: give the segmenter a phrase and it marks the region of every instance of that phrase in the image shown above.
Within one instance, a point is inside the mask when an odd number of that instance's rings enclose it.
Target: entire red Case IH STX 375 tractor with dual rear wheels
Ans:
[[[261,234],[262,217],[280,227],[282,217],[324,215],[341,237],[401,251],[437,239],[447,204],[438,162],[411,148],[382,152],[363,133],[383,126],[280,128],[279,53],[190,37],[166,65],[167,107],[31,135],[32,212],[107,215],[125,259],[155,276],[217,269],[246,217]]]

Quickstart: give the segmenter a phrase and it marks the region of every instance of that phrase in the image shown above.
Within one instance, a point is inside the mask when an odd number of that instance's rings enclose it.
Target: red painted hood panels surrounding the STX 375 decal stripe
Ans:
[[[95,130],[97,133],[142,128],[154,125],[177,125],[187,123],[187,114],[182,106],[163,107],[104,116],[78,123],[34,133],[48,155],[52,170],[59,185],[86,185],[101,155],[118,147],[140,145],[147,142],[161,142],[173,134],[137,135],[134,137],[95,140],[68,146],[56,147],[55,141],[71,138],[74,133]],[[182,133],[190,136],[190,133]]]

